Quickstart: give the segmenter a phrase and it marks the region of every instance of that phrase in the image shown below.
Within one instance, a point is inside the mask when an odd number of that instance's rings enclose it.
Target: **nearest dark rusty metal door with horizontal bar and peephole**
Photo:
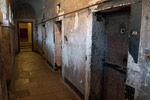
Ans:
[[[130,14],[115,13],[106,17],[106,54],[103,100],[125,100]]]

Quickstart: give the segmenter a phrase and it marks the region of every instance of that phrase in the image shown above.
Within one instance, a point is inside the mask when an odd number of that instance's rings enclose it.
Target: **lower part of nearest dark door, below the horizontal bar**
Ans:
[[[105,66],[104,100],[125,100],[125,78],[125,74]]]

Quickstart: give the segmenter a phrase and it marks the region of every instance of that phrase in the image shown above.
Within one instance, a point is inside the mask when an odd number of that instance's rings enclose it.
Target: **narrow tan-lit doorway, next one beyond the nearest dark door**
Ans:
[[[62,66],[62,22],[57,21],[54,25],[55,30],[55,69],[61,69]]]

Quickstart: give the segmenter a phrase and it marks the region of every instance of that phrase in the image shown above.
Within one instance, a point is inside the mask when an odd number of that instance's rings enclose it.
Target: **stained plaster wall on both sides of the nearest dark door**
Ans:
[[[31,3],[32,7],[36,12],[37,23],[47,20],[51,17],[58,15],[56,13],[57,3],[61,4],[61,13],[67,13],[87,5],[95,4],[101,0],[42,0],[35,3],[33,0]],[[127,71],[127,81],[126,84],[135,88],[135,98],[137,100],[148,100],[149,98],[149,63],[145,62],[145,50],[149,50],[148,37],[148,21],[147,16],[149,12],[148,0],[113,0],[115,1],[114,5],[112,3],[102,4],[104,9],[109,9],[113,7],[121,7],[125,5],[131,5],[131,34],[133,31],[137,31],[139,34],[137,36],[130,36],[129,43],[129,53],[128,53],[128,71]],[[123,1],[126,1],[125,3]],[[110,1],[111,2],[111,1]],[[121,3],[122,2],[122,3]],[[146,6],[145,6],[146,5]],[[138,10],[137,10],[138,9]],[[143,9],[143,10],[142,10]],[[147,10],[144,10],[147,9]],[[142,14],[143,13],[143,14]],[[71,14],[62,18],[62,63],[63,69],[62,74],[63,78],[69,80],[80,92],[85,96],[86,100],[89,96],[89,87],[90,87],[90,77],[95,77],[91,82],[96,83],[94,88],[101,88],[99,83],[101,78],[99,71],[101,72],[101,62],[98,62],[98,59],[94,58],[91,61],[91,49],[92,43],[92,26],[95,28],[102,29],[103,23],[100,23],[102,27],[97,26],[95,20],[92,18],[93,14],[84,10],[82,12]],[[142,17],[141,17],[142,16]],[[142,19],[142,24],[141,24]],[[58,19],[59,20],[59,19]],[[54,66],[55,65],[55,45],[54,45],[54,22],[56,20],[47,21],[45,23],[46,27],[46,58],[47,61]],[[42,24],[37,25],[37,41],[38,41],[38,50],[42,53]],[[147,30],[147,31],[146,31]],[[94,32],[95,34],[100,34],[99,32]],[[141,34],[141,37],[140,37]],[[101,34],[103,36],[103,34]],[[67,40],[66,40],[67,38]],[[96,35],[93,37],[98,41],[103,42],[104,40],[99,40]],[[147,41],[146,41],[147,40]],[[139,43],[140,41],[140,43]],[[139,46],[140,44],[140,46]],[[98,51],[104,49],[103,44],[96,44]],[[100,47],[100,48],[99,48]],[[138,49],[140,48],[140,49]],[[99,52],[103,53],[103,51]],[[95,54],[99,56],[99,54]],[[94,57],[94,56],[93,56]],[[100,56],[103,58],[103,55]],[[92,62],[92,65],[91,65]],[[98,66],[97,66],[98,65]],[[91,76],[90,69],[95,67],[95,73]],[[142,68],[141,68],[142,67]],[[93,70],[93,71],[94,71]],[[98,71],[99,70],[99,71]],[[96,96],[100,91],[97,89],[94,90]],[[98,92],[97,92],[98,91]],[[145,97],[144,97],[145,96]]]

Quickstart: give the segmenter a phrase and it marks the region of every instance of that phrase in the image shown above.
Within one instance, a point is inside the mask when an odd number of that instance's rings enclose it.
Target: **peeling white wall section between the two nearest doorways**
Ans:
[[[78,28],[76,27],[76,18],[64,19],[64,35],[68,41],[63,45],[63,67],[64,77],[74,84],[82,94],[85,94],[85,84],[89,81],[89,65],[91,50],[91,34],[92,30],[88,27],[92,24],[92,14],[78,14]],[[84,24],[83,24],[84,23]],[[87,28],[88,27],[88,28]],[[86,42],[85,42],[86,41]],[[89,41],[89,42],[88,42]],[[87,52],[86,52],[87,51]],[[86,77],[86,78],[85,78]]]

